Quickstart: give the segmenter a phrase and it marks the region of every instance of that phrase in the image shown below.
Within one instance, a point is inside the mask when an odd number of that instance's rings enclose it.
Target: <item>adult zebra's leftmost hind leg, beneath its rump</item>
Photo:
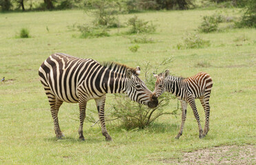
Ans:
[[[61,133],[60,126],[58,125],[58,109],[56,109],[56,97],[53,94],[47,94],[47,97],[51,107],[52,118],[54,120],[54,131],[56,137],[61,139],[63,134]]]

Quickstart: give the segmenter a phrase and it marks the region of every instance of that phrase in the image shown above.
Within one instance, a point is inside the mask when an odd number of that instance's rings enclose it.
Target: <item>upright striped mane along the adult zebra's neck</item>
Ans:
[[[119,70],[118,73],[120,73],[120,74],[125,74],[127,69],[131,69],[131,72],[134,75],[138,76],[138,74],[136,72],[136,68],[134,68],[134,67],[128,67],[127,65],[116,63],[116,62],[103,62],[100,64],[109,70],[111,70],[111,69],[116,70],[116,71]]]

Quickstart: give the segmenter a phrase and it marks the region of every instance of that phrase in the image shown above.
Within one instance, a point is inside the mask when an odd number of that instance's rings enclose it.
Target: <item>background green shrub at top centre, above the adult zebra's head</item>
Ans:
[[[148,21],[143,21],[142,19],[138,19],[137,16],[132,17],[128,20],[127,25],[131,25],[131,29],[128,34],[139,34],[139,33],[153,33],[156,32],[156,25],[153,25],[151,22],[148,25]]]

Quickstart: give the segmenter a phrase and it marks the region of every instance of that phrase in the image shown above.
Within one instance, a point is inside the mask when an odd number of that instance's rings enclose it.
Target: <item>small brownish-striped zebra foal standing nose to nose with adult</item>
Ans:
[[[164,91],[171,92],[174,94],[178,100],[180,100],[182,107],[182,123],[180,125],[180,131],[175,137],[178,139],[182,135],[184,122],[186,120],[186,107],[187,103],[191,106],[195,119],[198,122],[199,137],[202,138],[207,135],[209,131],[209,116],[210,116],[210,105],[209,99],[211,95],[211,88],[213,87],[213,80],[209,74],[200,72],[195,76],[189,78],[169,76],[169,70],[167,69],[165,73],[153,74],[157,78],[155,90],[153,91],[152,97],[154,99],[158,98]],[[205,125],[204,132],[202,131],[202,126],[200,124],[200,117],[198,115],[198,110],[195,106],[195,99],[199,98],[204,107],[205,113]]]

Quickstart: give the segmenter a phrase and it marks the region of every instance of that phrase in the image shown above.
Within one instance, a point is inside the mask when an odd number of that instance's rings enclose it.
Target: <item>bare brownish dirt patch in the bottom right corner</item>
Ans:
[[[218,146],[184,153],[178,160],[162,159],[164,164],[256,164],[256,146]]]

